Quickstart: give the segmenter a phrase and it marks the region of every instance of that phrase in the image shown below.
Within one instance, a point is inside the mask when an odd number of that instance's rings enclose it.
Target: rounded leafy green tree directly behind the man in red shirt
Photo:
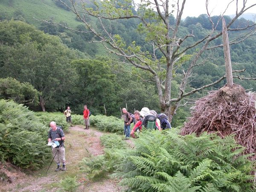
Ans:
[[[86,104],[93,114],[105,113],[107,115],[119,111],[116,105],[119,85],[116,83],[116,75],[111,71],[108,61],[80,59],[72,62],[76,69],[78,80],[76,90],[73,93],[73,100],[77,104]],[[75,105],[75,104],[74,104]],[[81,107],[82,113],[83,107]]]

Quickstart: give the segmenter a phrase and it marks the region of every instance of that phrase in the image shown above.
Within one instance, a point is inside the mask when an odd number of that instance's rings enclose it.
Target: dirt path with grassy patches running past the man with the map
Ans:
[[[100,145],[99,137],[103,133],[95,129],[83,129],[83,126],[77,125],[70,127],[70,133],[66,134],[65,149],[67,160],[66,172],[55,172],[55,163],[50,166],[48,173],[45,169],[35,172],[32,175],[25,175],[21,172],[10,173],[12,183],[0,183],[1,192],[53,192],[60,189],[56,180],[61,180],[65,176],[76,176],[80,183],[77,191],[82,192],[119,192],[121,187],[118,186],[117,180],[105,179],[98,182],[91,182],[79,172],[79,161],[83,157],[90,155],[97,156],[103,154],[103,147]],[[128,143],[131,141],[128,140]],[[71,174],[71,175],[70,175]]]

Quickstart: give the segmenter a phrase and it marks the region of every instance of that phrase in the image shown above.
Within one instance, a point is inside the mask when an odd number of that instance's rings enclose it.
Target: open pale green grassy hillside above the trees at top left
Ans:
[[[37,19],[49,20],[55,22],[65,21],[69,26],[75,27],[81,22],[76,20],[76,15],[67,10],[56,6],[53,0],[0,0],[1,15],[13,17],[13,15],[22,15],[27,23],[40,26]]]

